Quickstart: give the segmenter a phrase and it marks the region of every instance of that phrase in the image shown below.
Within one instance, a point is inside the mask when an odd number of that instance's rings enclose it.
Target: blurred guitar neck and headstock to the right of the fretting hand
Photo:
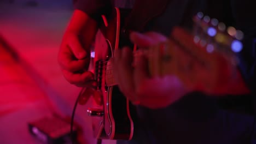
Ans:
[[[170,40],[149,48],[152,76],[177,75],[190,89],[211,93],[236,75],[243,33],[202,13],[191,32],[174,27]]]

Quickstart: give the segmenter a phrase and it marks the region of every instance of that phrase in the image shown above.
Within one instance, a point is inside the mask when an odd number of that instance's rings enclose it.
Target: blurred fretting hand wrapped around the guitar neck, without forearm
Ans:
[[[131,40],[138,47],[148,47],[167,40],[158,33],[147,34],[131,33]],[[115,80],[118,82],[121,92],[132,101],[151,109],[166,107],[181,98],[188,89],[174,75],[162,78],[150,77],[148,73],[147,58],[139,56],[132,67],[133,53],[128,47],[116,50],[113,59]]]

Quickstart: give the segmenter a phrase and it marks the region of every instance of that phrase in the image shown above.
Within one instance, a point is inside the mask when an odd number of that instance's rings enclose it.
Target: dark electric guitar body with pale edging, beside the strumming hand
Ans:
[[[119,91],[117,83],[113,80],[113,69],[109,61],[114,50],[119,48],[121,23],[120,10],[115,8],[112,16],[102,16],[104,25],[96,35],[95,58],[93,72],[97,80],[97,92],[101,94],[103,105],[102,116],[93,116],[93,130],[97,139],[131,140],[133,135],[133,121],[131,118],[131,105]]]

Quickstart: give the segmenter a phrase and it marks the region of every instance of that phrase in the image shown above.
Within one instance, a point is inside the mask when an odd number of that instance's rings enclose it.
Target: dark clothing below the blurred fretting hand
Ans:
[[[210,99],[197,93],[166,109],[139,107],[141,122],[135,127],[131,143],[253,144],[253,117],[219,110],[210,104]]]

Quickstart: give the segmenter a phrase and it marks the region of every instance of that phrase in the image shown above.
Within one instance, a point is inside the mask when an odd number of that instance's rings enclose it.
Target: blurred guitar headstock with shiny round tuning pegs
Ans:
[[[194,26],[191,34],[196,44],[205,47],[209,53],[218,52],[229,58],[232,63],[238,63],[235,53],[243,49],[242,31],[232,26],[227,27],[225,23],[214,18],[211,19],[209,16],[203,15],[202,12],[197,13],[193,17],[193,21]]]

